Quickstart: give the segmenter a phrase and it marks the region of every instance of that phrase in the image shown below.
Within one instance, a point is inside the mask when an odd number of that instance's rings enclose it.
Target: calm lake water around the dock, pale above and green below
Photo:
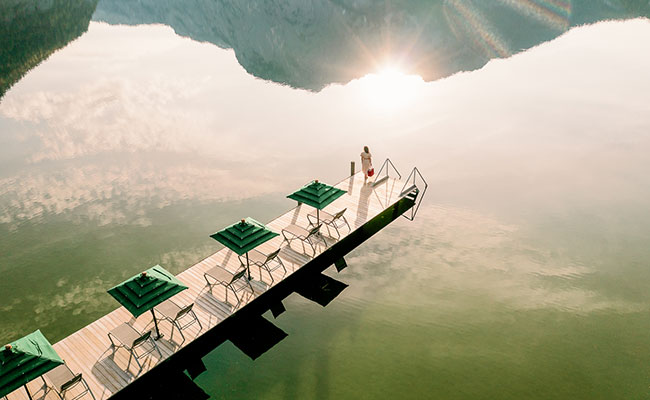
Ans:
[[[532,18],[526,43],[501,46],[516,42],[496,40],[471,2],[444,3],[493,54],[449,53],[436,72],[387,52],[337,75],[310,69],[311,51],[260,73],[254,30],[248,47],[243,33],[221,43],[100,2],[87,32],[0,99],[0,342],[37,328],[66,337],[116,308],[115,283],[157,263],[184,270],[219,249],[209,234],[274,218],[293,206],[287,193],[338,182],[369,145],[376,166],[389,157],[428,180],[416,220],[354,250],[332,272],[350,286],[326,308],[292,295],[274,321],[289,336],[258,360],[215,349],[201,388],[218,399],[650,398],[650,20],[571,27],[558,11]],[[511,3],[524,15],[525,4],[571,4]],[[248,23],[261,30],[259,13]]]

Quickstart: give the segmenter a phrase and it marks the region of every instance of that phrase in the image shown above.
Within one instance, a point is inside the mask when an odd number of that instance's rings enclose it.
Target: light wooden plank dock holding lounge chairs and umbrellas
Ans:
[[[111,347],[107,333],[123,322],[131,322],[142,332],[150,330],[153,328],[150,313],[135,319],[124,307],[120,307],[54,344],[54,348],[72,371],[83,374],[97,400],[135,398],[128,394],[129,390],[138,385],[142,386],[148,376],[155,375],[158,370],[169,370],[172,365],[181,365],[176,368],[185,369],[223,341],[232,339],[233,335],[237,334],[237,321],[252,316],[259,317],[269,309],[274,312],[282,310],[281,301],[284,298],[299,291],[301,285],[304,286],[314,278],[322,276],[320,274],[324,269],[341,260],[363,241],[411,209],[415,203],[413,196],[401,193],[403,186],[403,181],[392,177],[376,186],[364,184],[361,173],[341,181],[336,187],[347,191],[347,194],[330,204],[325,211],[335,213],[347,208],[345,217],[352,229],[348,231],[347,227],[342,228],[339,240],[325,236],[328,246],[320,245],[313,258],[302,252],[298,241],[294,241],[291,247],[286,247],[285,244],[280,257],[287,273],[281,268],[276,269],[273,272],[273,285],[266,272],[260,280],[258,269],[251,267],[255,293],[245,293],[237,309],[226,302],[223,287],[214,286],[210,291],[203,277],[203,273],[215,265],[221,265],[231,272],[239,270],[239,259],[231,250],[221,249],[177,275],[189,289],[174,296],[173,300],[180,305],[194,303],[202,329],[199,329],[198,324],[188,327],[183,331],[186,340],[181,343],[178,331],[175,330],[172,335],[171,324],[160,322],[163,337],[157,341],[157,345],[162,357],[156,352],[148,355],[142,360],[141,370],[135,361],[130,360],[129,363],[127,350],[115,350]],[[309,206],[298,205],[269,222],[267,227],[276,232],[280,232],[289,224],[307,227],[307,214],[313,210]],[[242,210],[242,215],[246,213],[246,210]],[[327,235],[325,227],[321,231]],[[279,236],[262,244],[259,250],[270,253],[281,243],[282,236]],[[232,293],[228,299],[231,303],[236,303]],[[40,379],[30,382],[28,387],[34,399],[58,399],[56,393],[44,389]],[[71,391],[70,398],[75,397],[74,394],[74,391]],[[7,398],[17,400],[26,399],[27,396],[21,388],[9,394]]]

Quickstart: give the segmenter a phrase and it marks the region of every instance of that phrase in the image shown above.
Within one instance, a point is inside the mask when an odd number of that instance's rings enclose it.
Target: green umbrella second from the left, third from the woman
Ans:
[[[187,286],[174,275],[160,265],[156,265],[109,289],[108,293],[136,318],[151,310],[153,323],[156,326],[155,339],[158,340],[162,335],[158,330],[158,321],[153,308],[185,289]]]

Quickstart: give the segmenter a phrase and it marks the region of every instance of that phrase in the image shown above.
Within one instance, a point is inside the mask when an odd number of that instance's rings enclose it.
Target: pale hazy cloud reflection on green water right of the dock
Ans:
[[[391,226],[349,256],[348,264],[362,268],[350,269],[349,283],[363,287],[365,301],[390,299],[444,315],[485,303],[572,313],[648,309],[646,303],[583,283],[602,266],[590,265],[587,253],[527,240],[522,231],[529,229],[469,209],[427,206],[415,226]],[[382,298],[375,298],[377,292]]]

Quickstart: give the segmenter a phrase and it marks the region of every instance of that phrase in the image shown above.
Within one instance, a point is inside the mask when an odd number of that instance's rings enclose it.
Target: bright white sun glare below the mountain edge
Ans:
[[[359,80],[367,103],[382,110],[395,110],[411,104],[424,81],[395,68],[384,68]]]

